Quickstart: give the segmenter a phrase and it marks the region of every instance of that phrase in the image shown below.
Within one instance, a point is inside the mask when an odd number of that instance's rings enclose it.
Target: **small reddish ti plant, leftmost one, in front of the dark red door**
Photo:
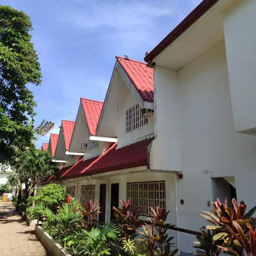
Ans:
[[[84,216],[84,228],[90,230],[94,226],[97,215],[100,214],[100,207],[98,201],[93,202],[91,199],[89,203],[82,204],[84,209],[81,214]]]

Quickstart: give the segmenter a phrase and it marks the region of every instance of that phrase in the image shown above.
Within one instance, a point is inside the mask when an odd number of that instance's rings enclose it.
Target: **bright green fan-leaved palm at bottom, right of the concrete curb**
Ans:
[[[110,255],[111,241],[118,239],[119,231],[116,224],[109,223],[100,230],[93,227],[90,231],[81,229],[68,236],[67,250],[73,255],[103,256]]]

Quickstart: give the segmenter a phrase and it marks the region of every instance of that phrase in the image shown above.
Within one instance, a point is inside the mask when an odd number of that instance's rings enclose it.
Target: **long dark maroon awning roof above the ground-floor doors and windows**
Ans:
[[[118,149],[117,143],[114,143],[99,157],[85,161],[82,158],[61,177],[67,179],[146,166],[148,145],[152,140],[148,138]]]

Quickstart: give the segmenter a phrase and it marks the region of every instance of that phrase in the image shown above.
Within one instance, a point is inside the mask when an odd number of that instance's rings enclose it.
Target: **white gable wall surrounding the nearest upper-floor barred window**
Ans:
[[[125,111],[138,102],[125,84],[121,76],[118,77],[118,147],[130,144],[140,138],[154,133],[154,116],[148,117],[148,124],[129,133],[125,133]],[[113,113],[114,114],[114,113]]]

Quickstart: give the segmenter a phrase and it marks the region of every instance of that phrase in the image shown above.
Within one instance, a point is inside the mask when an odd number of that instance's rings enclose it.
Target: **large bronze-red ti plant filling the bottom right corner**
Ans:
[[[232,199],[231,206],[227,206],[227,198],[224,204],[217,198],[217,201],[212,203],[214,209],[212,212],[202,211],[200,214],[207,219],[210,225],[204,227],[205,230],[212,231],[212,246],[217,245],[222,252],[233,254],[235,256],[244,256],[244,252],[248,256],[255,256],[256,253],[256,241],[255,241],[255,224],[256,219],[252,217],[256,210],[256,207],[246,212],[247,204],[243,201],[240,204],[236,199]],[[203,245],[209,240],[209,236],[202,236],[201,242]],[[199,241],[199,240],[198,240]],[[205,255],[209,251],[206,247],[202,247],[202,244],[196,246],[205,252]],[[209,244],[208,244],[209,245]],[[194,247],[196,247],[194,246]],[[197,247],[196,247],[197,248]],[[218,251],[217,251],[218,253]],[[218,255],[215,253],[215,255]]]

